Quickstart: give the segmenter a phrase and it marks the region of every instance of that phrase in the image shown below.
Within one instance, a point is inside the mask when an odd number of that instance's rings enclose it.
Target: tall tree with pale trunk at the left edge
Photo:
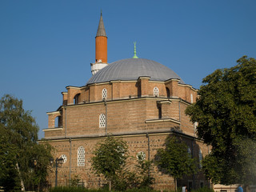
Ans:
[[[38,145],[38,125],[31,112],[8,94],[0,99],[0,134],[0,180],[5,191],[38,188],[46,181],[51,147]]]

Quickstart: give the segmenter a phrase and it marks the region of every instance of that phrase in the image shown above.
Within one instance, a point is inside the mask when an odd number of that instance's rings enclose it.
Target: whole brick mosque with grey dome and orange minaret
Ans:
[[[62,106],[47,113],[48,128],[41,142],[54,146],[54,158],[64,159],[58,168],[58,185],[68,185],[74,175],[86,187],[104,184],[104,178],[94,174],[90,158],[96,143],[108,134],[126,141],[130,155],[141,154],[148,160],[154,159],[167,136],[176,135],[186,142],[200,170],[209,148],[197,138],[197,125],[185,114],[186,107],[196,101],[198,90],[168,67],[138,58],[135,44],[133,58],[108,63],[102,14],[95,38],[95,61],[90,68],[92,76],[86,85],[66,86]],[[174,187],[170,175],[156,168],[152,174],[155,189]],[[54,186],[54,171],[49,181]],[[183,185],[198,188],[209,182],[199,171],[178,180],[178,186]]]

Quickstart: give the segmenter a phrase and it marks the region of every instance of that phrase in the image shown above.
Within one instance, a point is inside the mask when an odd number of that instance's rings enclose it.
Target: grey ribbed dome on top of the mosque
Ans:
[[[94,74],[87,84],[96,82],[110,82],[114,80],[138,80],[139,77],[150,77],[154,81],[166,81],[170,78],[178,78],[179,83],[185,84],[182,78],[173,70],[146,58],[126,58],[110,63],[109,66]]]

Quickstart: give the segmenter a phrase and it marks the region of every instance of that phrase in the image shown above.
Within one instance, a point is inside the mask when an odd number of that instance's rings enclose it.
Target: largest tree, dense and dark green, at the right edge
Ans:
[[[214,183],[251,184],[256,176],[256,60],[243,56],[230,69],[202,80],[200,98],[186,109],[198,137],[212,146],[203,161]]]

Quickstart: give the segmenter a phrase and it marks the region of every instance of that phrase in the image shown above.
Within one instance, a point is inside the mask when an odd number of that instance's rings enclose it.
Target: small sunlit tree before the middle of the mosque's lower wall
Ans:
[[[98,142],[93,152],[92,167],[96,174],[103,174],[109,180],[110,187],[118,185],[122,170],[128,158],[128,146],[120,138],[108,136],[103,142]]]

